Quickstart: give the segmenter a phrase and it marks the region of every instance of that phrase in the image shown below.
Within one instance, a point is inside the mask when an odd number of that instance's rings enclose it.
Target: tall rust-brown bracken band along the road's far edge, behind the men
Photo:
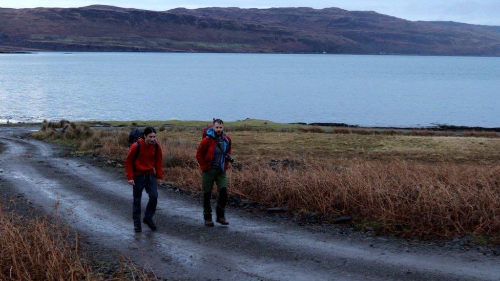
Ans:
[[[500,165],[308,161],[300,169],[246,163],[229,173],[230,192],[269,205],[324,215],[350,214],[379,230],[422,238],[478,234],[500,242]],[[341,168],[339,168],[341,167]],[[165,170],[171,183],[199,191],[196,168]]]

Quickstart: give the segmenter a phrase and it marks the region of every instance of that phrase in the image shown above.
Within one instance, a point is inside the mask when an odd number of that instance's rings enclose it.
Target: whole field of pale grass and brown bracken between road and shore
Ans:
[[[340,132],[232,132],[234,155],[243,169],[229,171],[230,192],[327,216],[350,214],[403,236],[472,233],[500,243],[500,140]],[[122,161],[127,133],[94,133],[105,134],[94,139],[96,151]],[[116,140],[100,142],[113,134]],[[201,131],[158,135],[165,180],[199,191],[194,155]],[[303,167],[267,164],[296,157],[304,160]]]

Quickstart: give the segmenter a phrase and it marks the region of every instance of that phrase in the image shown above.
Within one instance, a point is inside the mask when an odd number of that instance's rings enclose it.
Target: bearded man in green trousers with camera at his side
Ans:
[[[214,226],[212,221],[212,187],[217,184],[219,198],[215,209],[216,222],[222,225],[229,223],[224,218],[224,210],[227,203],[227,176],[229,167],[229,156],[231,155],[231,138],[224,133],[224,122],[220,119],[214,120],[213,127],[206,131],[196,150],[196,159],[202,170],[203,187],[203,219],[205,226]]]

